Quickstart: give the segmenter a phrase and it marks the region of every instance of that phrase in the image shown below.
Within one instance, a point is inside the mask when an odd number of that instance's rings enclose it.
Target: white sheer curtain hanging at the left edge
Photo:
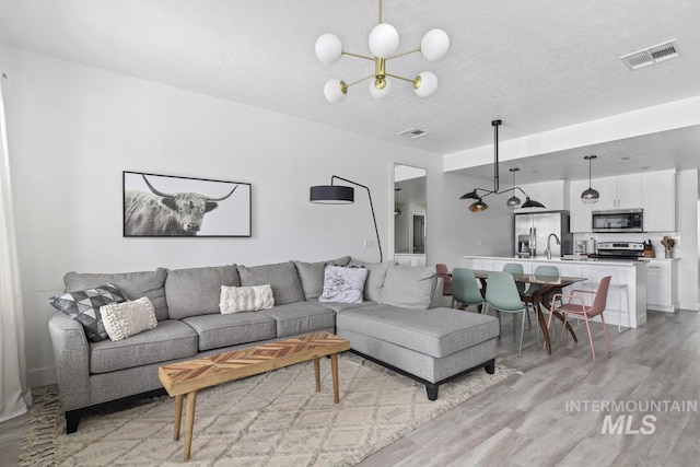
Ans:
[[[32,405],[24,361],[22,289],[12,214],[3,78],[0,78],[0,422],[25,413]]]

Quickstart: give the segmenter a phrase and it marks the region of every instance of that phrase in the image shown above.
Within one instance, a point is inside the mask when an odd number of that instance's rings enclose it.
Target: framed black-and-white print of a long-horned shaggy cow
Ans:
[[[250,236],[250,184],[124,172],[124,236]]]

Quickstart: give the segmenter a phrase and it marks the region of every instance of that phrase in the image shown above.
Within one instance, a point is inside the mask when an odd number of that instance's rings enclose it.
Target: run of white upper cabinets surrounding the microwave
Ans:
[[[581,194],[588,188],[588,180],[575,180],[570,184],[571,232],[591,232],[593,211],[639,208],[644,210],[645,232],[676,230],[675,171],[594,178],[591,186],[600,194],[600,198],[594,205],[584,205]]]

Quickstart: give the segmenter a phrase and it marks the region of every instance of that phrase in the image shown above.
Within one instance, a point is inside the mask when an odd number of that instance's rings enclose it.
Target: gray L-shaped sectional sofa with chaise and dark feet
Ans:
[[[322,303],[326,265],[368,269],[362,303]],[[80,417],[119,399],[162,393],[158,367],[314,331],[350,340],[351,351],[425,384],[435,400],[440,384],[485,367],[493,373],[498,320],[442,307],[442,279],[430,268],[364,264],[349,257],[257,267],[219,266],[65,277],[66,292],[113,283],[125,297],[148,296],[154,329],[124,340],[89,341],[83,327],[60,312],[49,320],[67,432]],[[270,284],[275,306],[221,314],[222,285]]]

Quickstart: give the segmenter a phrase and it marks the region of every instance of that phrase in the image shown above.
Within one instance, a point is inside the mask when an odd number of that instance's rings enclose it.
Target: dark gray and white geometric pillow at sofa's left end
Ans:
[[[102,322],[100,307],[124,301],[124,294],[113,283],[48,299],[51,306],[83,325],[85,336],[92,342],[109,338]]]

